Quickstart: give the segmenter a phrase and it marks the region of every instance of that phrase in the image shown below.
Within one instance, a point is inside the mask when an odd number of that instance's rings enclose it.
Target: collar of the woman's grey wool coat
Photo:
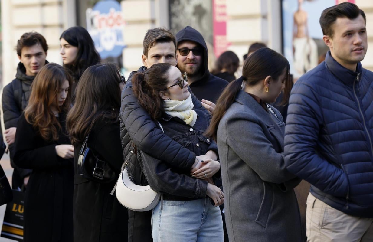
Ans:
[[[273,126],[275,123],[279,122],[279,120],[276,120],[276,117],[272,113],[263,109],[263,107],[245,91],[239,90],[236,96],[236,102],[241,103],[242,105],[253,110],[253,113],[255,113],[256,116],[268,126]]]

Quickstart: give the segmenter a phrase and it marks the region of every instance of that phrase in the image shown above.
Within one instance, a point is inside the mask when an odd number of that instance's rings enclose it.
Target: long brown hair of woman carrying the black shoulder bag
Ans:
[[[74,106],[67,115],[66,129],[71,144],[84,141],[97,120],[118,121],[120,109],[120,73],[112,63],[88,67],[76,87]]]

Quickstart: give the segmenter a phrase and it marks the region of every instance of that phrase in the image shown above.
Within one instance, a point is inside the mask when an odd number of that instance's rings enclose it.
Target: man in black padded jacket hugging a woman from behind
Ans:
[[[176,65],[176,40],[175,36],[165,28],[149,29],[145,34],[144,54],[142,63],[144,66],[138,72],[145,72],[147,67],[156,63],[170,63]],[[135,183],[145,185],[146,179],[140,167],[131,159],[131,151],[134,146],[149,154],[151,157],[164,161],[170,166],[188,173],[190,170],[201,165],[200,160],[211,158],[217,160],[217,154],[210,150],[206,155],[196,157],[187,148],[183,147],[169,136],[164,135],[162,130],[154,123],[147,111],[140,106],[137,98],[132,92],[132,72],[122,90],[120,106],[120,138],[122,140],[123,156],[128,161],[128,170]],[[207,113],[201,102],[192,94],[195,109],[201,109]],[[190,132],[195,132],[191,129]],[[198,158],[198,159],[197,159]],[[151,239],[151,211],[135,212],[128,211],[128,241],[152,241]],[[145,222],[144,222],[145,221]]]

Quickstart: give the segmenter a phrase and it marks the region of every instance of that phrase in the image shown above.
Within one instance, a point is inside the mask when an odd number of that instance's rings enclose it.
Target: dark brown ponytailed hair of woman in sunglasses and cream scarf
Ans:
[[[164,102],[160,92],[167,89],[171,67],[169,63],[157,63],[145,72],[138,72],[132,77],[134,95],[153,120],[159,119],[164,113]]]

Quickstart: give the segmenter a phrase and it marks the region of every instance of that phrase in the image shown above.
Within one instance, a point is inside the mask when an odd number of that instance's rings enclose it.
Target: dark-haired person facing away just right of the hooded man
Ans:
[[[236,79],[234,73],[239,66],[238,56],[233,51],[223,52],[216,61],[216,69],[211,73],[214,76],[222,78],[228,82]]]

